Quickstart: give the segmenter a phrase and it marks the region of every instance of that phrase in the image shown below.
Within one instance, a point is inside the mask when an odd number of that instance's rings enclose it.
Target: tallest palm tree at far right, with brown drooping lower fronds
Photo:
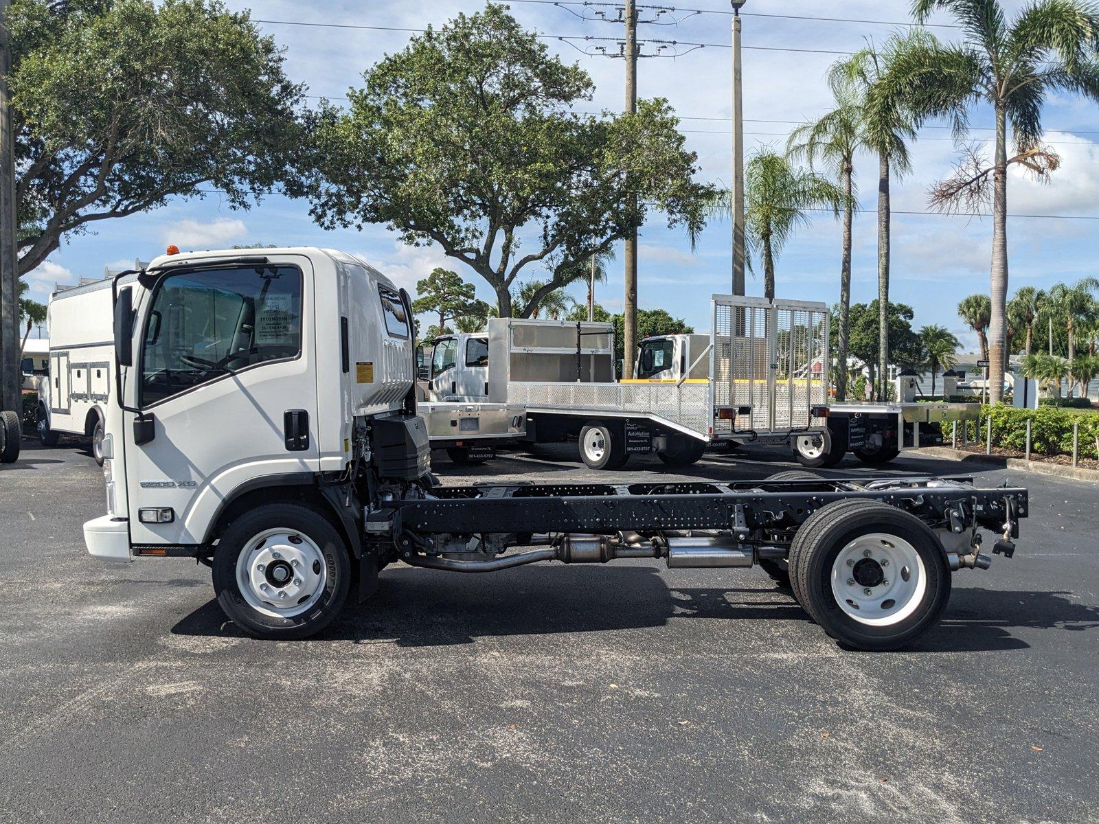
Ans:
[[[991,164],[970,153],[952,179],[932,190],[932,203],[948,209],[992,204],[992,256],[989,276],[991,316],[990,401],[1003,394],[1008,296],[1008,166],[1019,164],[1045,178],[1059,164],[1041,145],[1042,103],[1057,91],[1099,99],[1099,9],[1086,0],[1033,0],[1010,22],[999,0],[912,0],[923,23],[936,10],[959,24],[958,43],[940,43],[921,33],[901,49],[882,77],[881,98],[907,109],[919,124],[935,115],[952,118],[955,136],[965,135],[968,109],[987,104],[996,125]],[[1008,156],[1008,124],[1015,153]]]

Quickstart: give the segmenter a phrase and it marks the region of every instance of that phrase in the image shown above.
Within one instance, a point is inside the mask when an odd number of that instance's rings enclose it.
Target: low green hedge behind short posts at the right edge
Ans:
[[[967,422],[967,436],[984,444],[986,422],[992,419],[992,446],[1026,450],[1026,420],[1031,423],[1031,452],[1035,455],[1072,455],[1073,422],[1079,421],[1079,456],[1099,457],[1096,438],[1099,437],[1099,413],[1092,411],[1040,407],[1013,409],[1012,407],[981,407],[980,421]],[[950,436],[950,430],[944,428]],[[961,433],[959,433],[961,434]]]

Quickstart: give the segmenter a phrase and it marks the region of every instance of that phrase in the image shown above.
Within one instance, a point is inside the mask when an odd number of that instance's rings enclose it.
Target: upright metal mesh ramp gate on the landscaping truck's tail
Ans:
[[[712,307],[713,435],[812,427],[828,404],[828,307],[730,294]]]

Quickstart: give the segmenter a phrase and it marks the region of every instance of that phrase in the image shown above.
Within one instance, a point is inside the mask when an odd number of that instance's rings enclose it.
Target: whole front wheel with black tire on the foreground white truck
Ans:
[[[213,555],[218,603],[255,638],[313,635],[347,600],[351,560],[336,528],[295,503],[268,503],[233,521]]]

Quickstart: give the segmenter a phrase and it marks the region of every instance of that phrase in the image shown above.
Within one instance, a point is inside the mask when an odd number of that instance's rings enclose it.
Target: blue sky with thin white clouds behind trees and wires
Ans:
[[[654,4],[670,5],[655,0]],[[251,3],[229,0],[227,5],[251,9],[253,18],[258,20],[415,29],[428,22],[443,23],[457,11],[481,8],[475,0],[260,0]],[[687,5],[721,12],[729,9],[723,0],[692,0]],[[1003,5],[1010,13],[1021,8],[1022,2],[1003,0]],[[577,5],[571,8],[580,10]],[[744,45],[851,52],[861,48],[867,37],[884,40],[896,26],[758,14],[832,14],[903,22],[909,19],[907,9],[907,0],[847,0],[843,4],[748,0],[744,9]],[[621,34],[619,24],[586,21],[547,3],[517,2],[512,4],[512,13],[529,29],[548,35],[614,37]],[[676,13],[677,18],[685,15],[682,11]],[[937,15],[932,22],[951,21]],[[290,77],[307,83],[309,94],[331,97],[343,97],[348,86],[358,85],[364,69],[384,54],[402,48],[411,36],[392,31],[260,25],[286,48]],[[642,25],[639,36],[728,44],[729,25],[728,14],[696,14],[686,16],[677,25]],[[948,27],[934,31],[947,40],[957,36]],[[568,43],[554,38],[546,42],[562,58],[578,62],[595,79],[595,100],[586,109],[621,108],[622,60],[588,57]],[[767,144],[782,147],[792,127],[785,123],[755,121],[801,121],[828,109],[830,96],[823,78],[829,65],[839,58],[840,55],[813,52],[756,48],[745,52],[744,116],[748,121],[745,140],[750,151]],[[729,118],[730,76],[730,51],[719,47],[698,48],[675,59],[642,59],[639,65],[639,93],[666,97],[684,118],[681,129],[688,145],[699,155],[700,179],[728,181],[730,178],[730,123],[701,119]],[[1044,123],[1047,141],[1061,155],[1062,168],[1045,186],[1013,175],[1009,211],[1099,215],[1099,108],[1081,98],[1053,96],[1045,109]],[[990,126],[990,113],[977,111],[972,125]],[[975,130],[973,138],[984,140],[989,134]],[[925,211],[929,185],[950,174],[956,156],[948,130],[923,130],[912,146],[913,172],[895,186],[895,209]],[[856,176],[863,208],[873,210],[875,207],[876,175],[876,160],[869,156],[859,158]],[[640,304],[667,309],[699,331],[707,331],[710,294],[730,291],[729,235],[729,222],[714,221],[692,253],[682,232],[668,230],[662,215],[653,214],[640,238]],[[1094,275],[1097,241],[1099,220],[1012,219],[1009,222],[1011,288],[1021,285],[1047,287],[1058,280],[1072,281]],[[168,243],[182,248],[218,248],[248,242],[344,248],[363,256],[410,291],[414,291],[415,281],[434,266],[445,266],[474,282],[481,298],[493,299],[475,272],[447,259],[436,248],[407,247],[382,226],[363,232],[325,232],[312,222],[304,201],[281,197],[265,198],[247,211],[229,209],[215,194],[202,200],[179,199],[163,209],[101,223],[95,234],[68,238],[27,279],[32,293],[41,299],[54,282],[101,276],[104,266],[129,265],[135,257],[148,259]],[[958,320],[956,305],[966,294],[987,292],[990,244],[991,222],[987,218],[895,215],[891,299],[914,307],[917,325],[945,325],[967,348],[973,348],[975,336]],[[856,215],[853,302],[869,301],[877,294],[875,248],[874,215]],[[600,287],[597,294],[597,299],[611,310],[622,305],[621,260],[619,253],[610,267],[610,281]],[[840,291],[839,268],[840,226],[831,216],[822,214],[798,232],[778,259],[777,297],[835,302]],[[529,277],[540,275],[531,270]],[[762,278],[748,280],[750,294],[759,294],[762,289]],[[582,300],[581,287],[571,291],[575,298]]]

